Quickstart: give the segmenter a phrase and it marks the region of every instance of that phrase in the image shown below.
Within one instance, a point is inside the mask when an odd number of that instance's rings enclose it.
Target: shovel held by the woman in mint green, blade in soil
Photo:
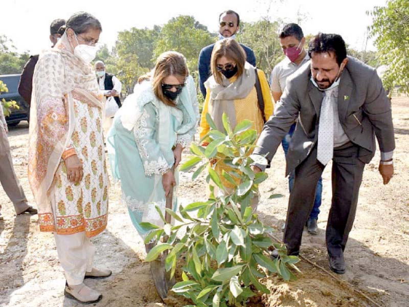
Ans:
[[[172,167],[172,172],[174,172],[174,167]],[[168,196],[166,196],[166,208],[172,210],[173,206],[173,187],[171,188]],[[168,212],[165,211],[165,221],[167,224],[170,224],[171,216]],[[168,236],[163,236],[163,242],[168,241]],[[155,283],[157,294],[161,297],[162,300],[168,297],[168,291],[176,283],[175,277],[170,278],[170,271],[167,272],[165,269],[165,259],[168,255],[168,251],[165,251],[160,255],[156,260],[150,262],[150,272]]]

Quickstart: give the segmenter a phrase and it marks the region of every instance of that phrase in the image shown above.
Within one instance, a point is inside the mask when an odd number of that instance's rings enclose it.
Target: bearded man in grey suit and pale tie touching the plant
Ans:
[[[311,61],[287,79],[273,116],[255,149],[255,172],[265,169],[281,140],[298,118],[287,153],[286,174],[295,171],[284,243],[298,255],[303,228],[311,212],[315,186],[332,159],[332,202],[326,242],[329,266],[345,272],[344,250],[355,218],[363,168],[381,151],[383,184],[393,175],[395,149],[391,103],[375,69],[347,56],[343,38],[316,35],[309,43]]]

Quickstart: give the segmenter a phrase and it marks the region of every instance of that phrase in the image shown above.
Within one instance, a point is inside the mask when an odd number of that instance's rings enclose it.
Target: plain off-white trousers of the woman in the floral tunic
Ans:
[[[54,233],[58,259],[70,286],[84,281],[85,272],[92,271],[95,246],[85,231],[74,234]]]

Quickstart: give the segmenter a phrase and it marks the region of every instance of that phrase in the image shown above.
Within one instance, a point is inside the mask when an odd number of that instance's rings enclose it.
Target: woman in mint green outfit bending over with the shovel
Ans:
[[[199,118],[196,88],[185,57],[165,52],[149,80],[135,87],[117,112],[108,133],[113,176],[121,180],[122,200],[133,225],[163,225],[155,205],[165,215],[166,195],[176,185],[172,166],[181,159],[196,133]],[[174,202],[174,210],[176,204]]]

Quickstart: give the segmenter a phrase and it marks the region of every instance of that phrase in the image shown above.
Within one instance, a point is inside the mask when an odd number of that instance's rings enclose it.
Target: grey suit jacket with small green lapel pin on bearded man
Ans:
[[[382,152],[395,149],[391,102],[375,69],[348,57],[338,89],[339,121],[351,142],[360,146],[359,159],[369,163],[375,136]],[[265,123],[254,153],[271,161],[294,120],[296,130],[287,153],[286,174],[309,155],[317,142],[323,92],[311,82],[310,61],[287,79],[274,115]]]

